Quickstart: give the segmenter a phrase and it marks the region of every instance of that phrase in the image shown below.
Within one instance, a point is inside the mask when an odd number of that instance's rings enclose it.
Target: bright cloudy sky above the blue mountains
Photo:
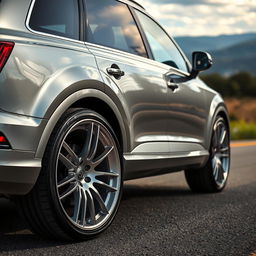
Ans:
[[[256,0],[137,0],[172,36],[256,32]]]

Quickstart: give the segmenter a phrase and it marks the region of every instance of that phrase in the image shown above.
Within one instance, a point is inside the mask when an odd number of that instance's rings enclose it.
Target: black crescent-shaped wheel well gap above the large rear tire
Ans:
[[[118,119],[113,110],[104,101],[97,98],[85,98],[75,102],[70,108],[86,108],[93,110],[102,115],[113,128],[117,139],[120,143],[121,149],[123,149],[123,137]]]

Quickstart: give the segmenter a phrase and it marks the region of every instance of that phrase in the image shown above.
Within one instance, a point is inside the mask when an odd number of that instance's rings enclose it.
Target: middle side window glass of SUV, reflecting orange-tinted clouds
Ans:
[[[115,0],[87,0],[87,41],[147,57],[147,53],[126,4]]]

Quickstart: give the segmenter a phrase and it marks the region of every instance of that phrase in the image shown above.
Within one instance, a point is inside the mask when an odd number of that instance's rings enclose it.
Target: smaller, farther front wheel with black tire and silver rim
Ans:
[[[185,171],[187,183],[194,192],[221,192],[227,184],[230,169],[230,139],[227,122],[221,116],[217,116],[212,128],[209,153],[209,159],[203,168]]]

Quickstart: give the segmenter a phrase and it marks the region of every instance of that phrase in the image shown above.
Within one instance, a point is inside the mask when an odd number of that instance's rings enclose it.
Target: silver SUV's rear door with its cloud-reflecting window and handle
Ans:
[[[168,88],[163,69],[147,58],[126,4],[115,0],[87,0],[86,4],[86,46],[95,55],[107,90],[118,96],[127,112],[130,151],[167,153]]]

